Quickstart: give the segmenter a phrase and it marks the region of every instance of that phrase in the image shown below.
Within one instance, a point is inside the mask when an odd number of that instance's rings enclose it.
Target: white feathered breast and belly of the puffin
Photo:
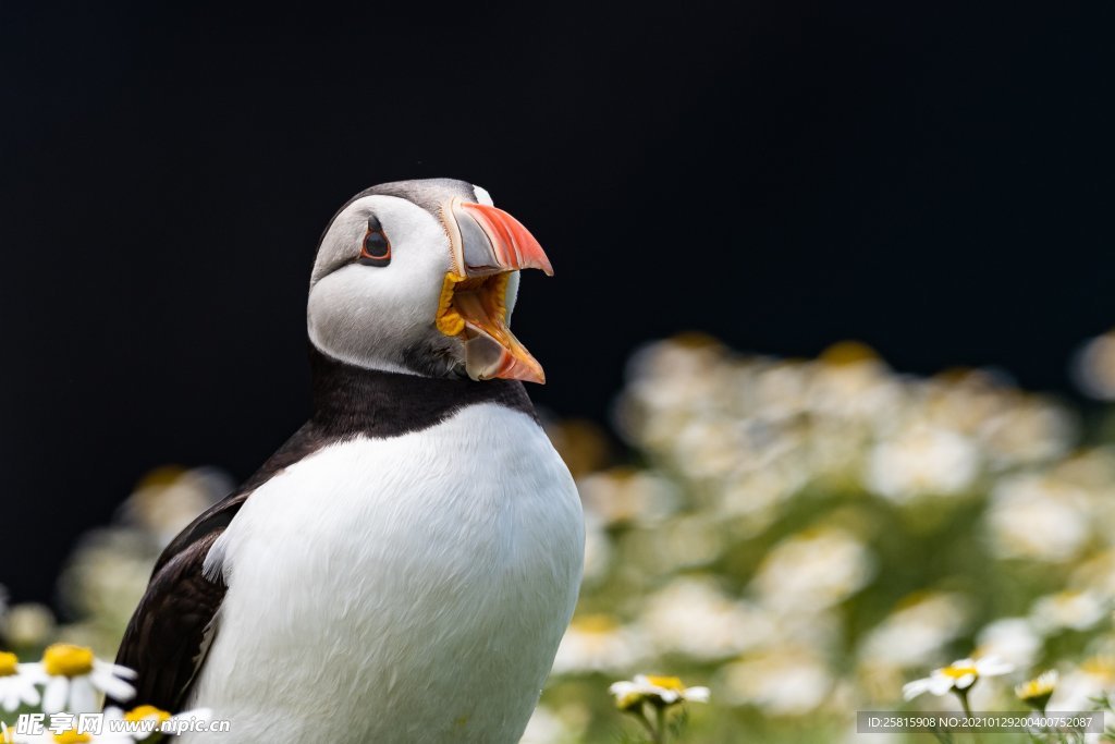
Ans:
[[[244,743],[516,742],[582,554],[573,481],[522,413],[331,445],[211,551],[229,591],[191,706]]]

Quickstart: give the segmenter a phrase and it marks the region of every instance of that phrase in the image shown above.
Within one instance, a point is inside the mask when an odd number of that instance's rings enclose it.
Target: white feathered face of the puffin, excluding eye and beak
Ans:
[[[386,265],[359,261],[369,218],[379,221],[390,243]],[[352,202],[318,250],[307,309],[310,341],[358,367],[463,376],[464,344],[435,327],[452,257],[445,228],[425,209],[387,195]],[[516,276],[507,287],[508,315],[517,286]]]

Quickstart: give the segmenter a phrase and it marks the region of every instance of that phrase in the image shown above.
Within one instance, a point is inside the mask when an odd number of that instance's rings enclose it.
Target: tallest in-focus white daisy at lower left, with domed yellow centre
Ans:
[[[91,713],[99,709],[98,693],[120,700],[132,699],[136,690],[127,679],[136,673],[127,667],[101,661],[93,650],[72,644],[55,644],[35,665],[49,677],[42,694],[42,712]]]

